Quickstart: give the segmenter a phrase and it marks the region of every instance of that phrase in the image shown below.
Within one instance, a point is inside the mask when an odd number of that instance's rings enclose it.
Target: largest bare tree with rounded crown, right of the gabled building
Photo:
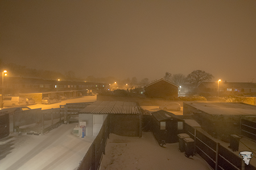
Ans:
[[[209,82],[210,80],[212,80],[212,78],[214,78],[212,74],[206,73],[205,71],[202,71],[202,70],[192,71],[192,73],[187,76],[188,82],[193,84]]]

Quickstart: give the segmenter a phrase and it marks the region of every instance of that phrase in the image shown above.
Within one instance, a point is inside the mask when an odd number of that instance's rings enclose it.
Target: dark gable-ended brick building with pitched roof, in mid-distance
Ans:
[[[166,79],[159,79],[144,87],[147,97],[178,97],[179,86]]]

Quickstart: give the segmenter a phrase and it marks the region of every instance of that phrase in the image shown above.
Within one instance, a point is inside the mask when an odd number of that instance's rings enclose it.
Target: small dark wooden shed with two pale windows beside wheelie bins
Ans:
[[[177,118],[175,114],[163,110],[153,112],[152,114],[152,132],[161,143],[178,142],[177,134],[183,130],[184,120]]]

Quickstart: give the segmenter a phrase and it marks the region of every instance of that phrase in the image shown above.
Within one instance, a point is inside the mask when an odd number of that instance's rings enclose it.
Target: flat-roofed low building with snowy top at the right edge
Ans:
[[[256,121],[256,106],[244,103],[184,102],[183,114],[193,114],[201,127],[214,137],[240,134],[241,118]]]

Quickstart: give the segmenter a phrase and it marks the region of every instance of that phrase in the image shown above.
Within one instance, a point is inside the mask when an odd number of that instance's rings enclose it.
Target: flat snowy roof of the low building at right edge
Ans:
[[[256,116],[256,106],[244,103],[184,102],[213,116]]]

